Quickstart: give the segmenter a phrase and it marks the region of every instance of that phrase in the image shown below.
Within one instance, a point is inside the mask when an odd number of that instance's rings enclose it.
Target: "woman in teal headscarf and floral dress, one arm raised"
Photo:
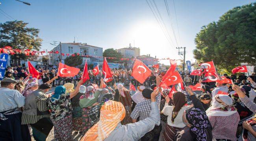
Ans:
[[[65,93],[64,86],[55,88],[54,95],[48,100],[48,105],[51,110],[51,119],[54,124],[54,139],[56,141],[70,141],[72,137],[72,106],[70,98],[78,94],[80,85],[83,81],[80,80],[74,92]]]

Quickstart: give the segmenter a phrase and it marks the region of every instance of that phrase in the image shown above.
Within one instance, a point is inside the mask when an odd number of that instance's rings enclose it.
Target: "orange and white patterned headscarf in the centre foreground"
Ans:
[[[89,129],[80,141],[103,141],[125,117],[121,102],[109,100],[100,109],[100,121]]]

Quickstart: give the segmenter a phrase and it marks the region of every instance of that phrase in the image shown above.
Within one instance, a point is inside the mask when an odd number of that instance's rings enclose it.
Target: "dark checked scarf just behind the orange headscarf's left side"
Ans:
[[[102,105],[109,100],[113,100],[114,96],[111,93],[105,94],[100,103],[98,105],[95,105],[93,107],[91,107],[88,116],[91,119],[91,123],[94,124],[96,122],[98,122],[98,119],[100,118],[100,108],[102,107]]]

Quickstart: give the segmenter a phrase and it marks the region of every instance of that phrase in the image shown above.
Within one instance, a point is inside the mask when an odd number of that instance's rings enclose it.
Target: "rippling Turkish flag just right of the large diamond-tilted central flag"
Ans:
[[[177,84],[177,83],[183,83],[183,80],[180,77],[179,72],[177,72],[177,71],[174,71],[173,73],[170,73],[170,74],[166,73],[165,75],[167,75],[167,76],[164,80],[161,81],[160,86],[163,83],[165,83],[167,86],[174,85],[174,84]]]

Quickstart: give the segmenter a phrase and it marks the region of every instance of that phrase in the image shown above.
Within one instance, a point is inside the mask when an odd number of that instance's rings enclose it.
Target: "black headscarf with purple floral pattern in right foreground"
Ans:
[[[192,137],[197,141],[206,141],[205,129],[212,128],[208,116],[199,108],[188,108],[186,110],[186,119],[192,127],[189,128]]]

